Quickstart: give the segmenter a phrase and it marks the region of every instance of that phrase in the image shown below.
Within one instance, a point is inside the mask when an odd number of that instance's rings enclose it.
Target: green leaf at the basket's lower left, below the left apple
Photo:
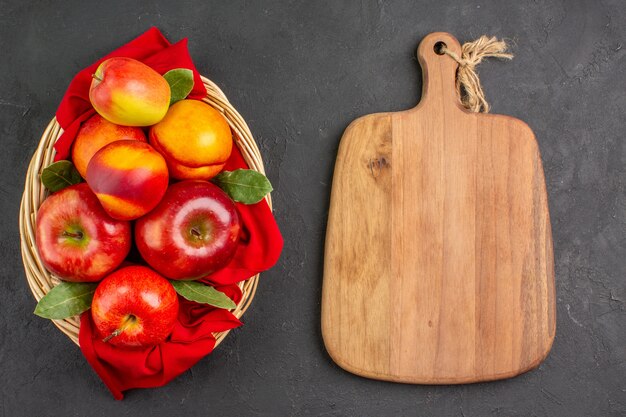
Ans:
[[[39,300],[35,314],[60,320],[89,310],[97,286],[93,282],[62,282]]]

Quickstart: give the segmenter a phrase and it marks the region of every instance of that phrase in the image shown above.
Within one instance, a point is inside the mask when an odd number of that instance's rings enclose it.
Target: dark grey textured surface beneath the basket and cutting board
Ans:
[[[129,3],[0,1],[0,416],[626,414],[624,2]],[[30,155],[72,75],[151,25],[189,37],[198,68],[250,124],[286,245],[243,328],[168,386],[116,402],[79,349],[32,315],[17,217]],[[537,370],[512,380],[362,379],[330,361],[320,335],[339,138],[358,116],[417,103],[415,49],[436,30],[514,42],[515,59],[481,76],[493,111],[528,122],[542,151],[557,336]]]

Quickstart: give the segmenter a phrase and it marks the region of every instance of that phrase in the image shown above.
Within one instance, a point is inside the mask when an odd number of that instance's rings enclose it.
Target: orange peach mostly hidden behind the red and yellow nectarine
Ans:
[[[147,141],[146,134],[140,127],[116,125],[99,114],[87,119],[80,127],[72,146],[72,161],[80,175],[83,178],[87,176],[87,164],[100,148],[123,139]]]

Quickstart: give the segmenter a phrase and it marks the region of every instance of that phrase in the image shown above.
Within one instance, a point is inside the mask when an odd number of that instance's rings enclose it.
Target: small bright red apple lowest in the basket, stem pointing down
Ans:
[[[102,280],[91,316],[104,341],[116,346],[153,346],[164,341],[178,317],[172,284],[145,266],[127,266]]]

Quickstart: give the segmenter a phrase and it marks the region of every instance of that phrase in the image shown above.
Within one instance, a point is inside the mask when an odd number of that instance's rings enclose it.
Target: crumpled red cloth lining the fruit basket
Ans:
[[[89,102],[91,74],[106,58],[127,56],[150,65],[157,72],[173,68],[189,68],[195,85],[190,98],[202,98],[206,89],[187,51],[187,40],[174,45],[156,28],[113,51],[76,75],[61,101],[56,116],[64,134],[55,144],[56,160],[69,155],[80,124],[94,110]],[[233,153],[225,169],[248,168],[239,149]],[[237,203],[242,222],[240,244],[231,262],[222,270],[203,279],[226,293],[235,302],[241,299],[236,283],[273,266],[283,247],[283,240],[272,212],[265,200],[252,205]],[[81,317],[79,342],[83,355],[116,399],[131,388],[157,387],[189,369],[211,353],[215,346],[214,332],[233,329],[241,322],[229,311],[193,303],[180,298],[178,322],[172,335],[158,346],[147,349],[122,349],[103,343],[95,332],[89,311]]]

